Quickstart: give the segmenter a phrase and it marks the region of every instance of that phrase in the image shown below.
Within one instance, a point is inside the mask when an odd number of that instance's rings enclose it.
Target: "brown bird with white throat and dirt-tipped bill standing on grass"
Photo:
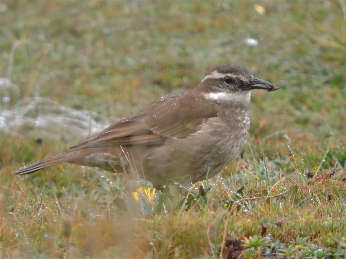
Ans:
[[[25,165],[15,174],[72,163],[126,173],[156,189],[189,187],[217,175],[238,154],[250,127],[251,91],[280,89],[231,64],[209,70],[192,90],[170,94],[121,119],[71,151]]]

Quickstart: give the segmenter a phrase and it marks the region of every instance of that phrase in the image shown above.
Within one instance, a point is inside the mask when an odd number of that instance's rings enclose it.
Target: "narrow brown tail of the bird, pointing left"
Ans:
[[[79,160],[85,156],[89,155],[88,152],[86,152],[85,149],[83,150],[74,150],[66,153],[62,153],[53,157],[47,157],[42,160],[39,160],[33,164],[25,165],[21,168],[18,168],[15,170],[14,174],[17,175],[26,175],[34,173],[38,170],[41,170],[43,168],[58,165],[62,163],[71,163],[75,160]]]

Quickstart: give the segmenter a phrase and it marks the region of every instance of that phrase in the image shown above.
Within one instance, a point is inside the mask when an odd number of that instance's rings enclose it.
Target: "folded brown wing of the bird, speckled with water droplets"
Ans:
[[[122,119],[97,136],[70,148],[159,145],[167,138],[185,138],[217,117],[217,105],[187,93],[165,96],[131,117]]]

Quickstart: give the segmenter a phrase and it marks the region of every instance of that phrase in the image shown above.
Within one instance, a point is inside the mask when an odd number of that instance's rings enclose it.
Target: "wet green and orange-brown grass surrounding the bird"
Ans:
[[[0,96],[10,97],[0,103],[1,256],[345,258],[345,6],[0,3],[0,77],[14,84],[0,81]],[[248,143],[188,196],[171,187],[136,192],[137,201],[116,174],[75,165],[11,174],[65,151],[97,125],[192,89],[224,63],[281,89],[253,92]],[[23,113],[35,96],[55,104],[39,101]],[[35,124],[42,114],[48,124]]]

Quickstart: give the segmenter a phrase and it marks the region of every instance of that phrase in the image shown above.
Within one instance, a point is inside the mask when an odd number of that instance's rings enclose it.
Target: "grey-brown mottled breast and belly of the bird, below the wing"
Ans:
[[[218,174],[243,146],[250,126],[247,110],[224,111],[184,139],[167,139],[146,156],[146,175],[155,184],[198,182]]]

